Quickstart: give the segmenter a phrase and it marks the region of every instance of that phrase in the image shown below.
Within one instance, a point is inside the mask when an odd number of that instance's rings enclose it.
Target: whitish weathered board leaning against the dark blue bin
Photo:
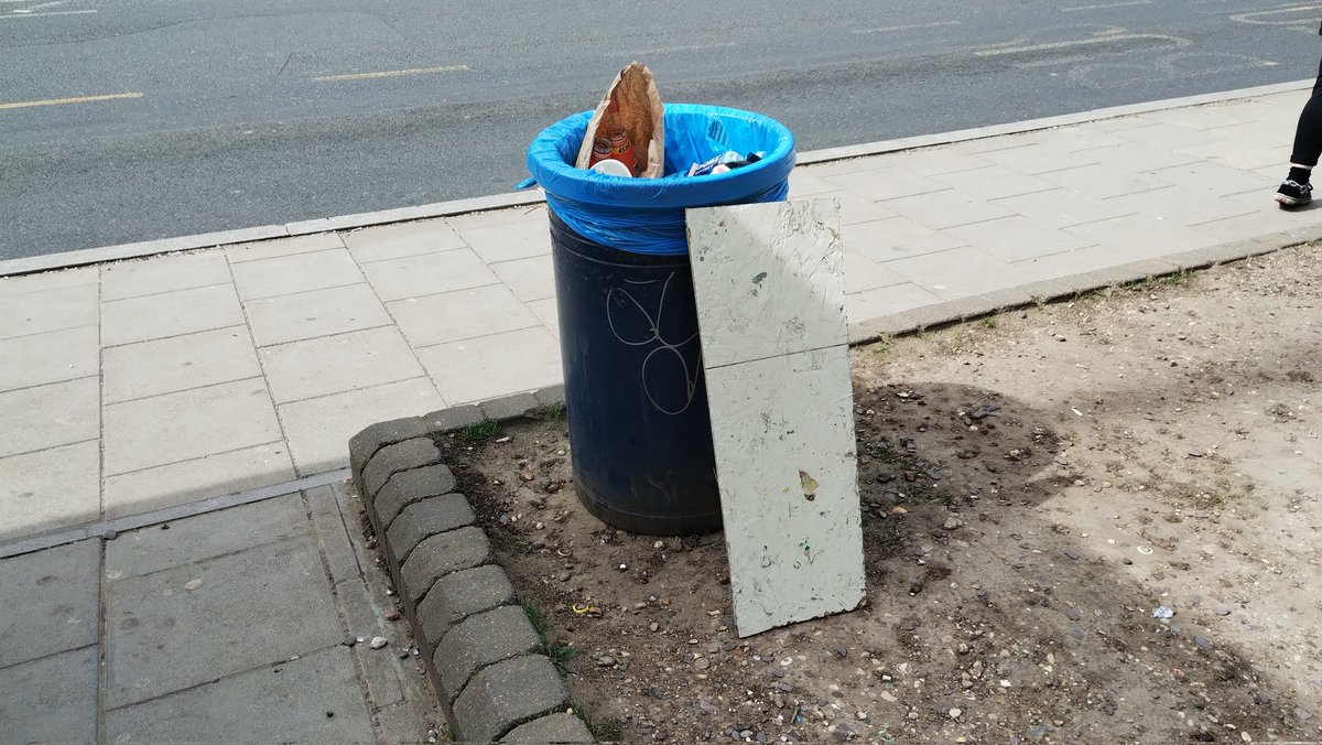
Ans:
[[[863,539],[836,200],[687,210],[735,622],[851,610]]]

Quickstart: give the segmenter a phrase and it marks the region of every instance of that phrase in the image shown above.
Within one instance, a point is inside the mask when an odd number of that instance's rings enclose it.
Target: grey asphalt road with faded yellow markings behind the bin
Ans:
[[[531,138],[635,58],[665,101],[761,111],[816,150],[1310,78],[1318,16],[1252,0],[0,0],[0,259],[506,192]]]

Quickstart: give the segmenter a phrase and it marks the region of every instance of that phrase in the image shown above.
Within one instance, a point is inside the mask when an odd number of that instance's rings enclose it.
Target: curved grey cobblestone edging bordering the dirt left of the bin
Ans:
[[[460,742],[591,742],[434,437],[561,405],[563,386],[379,422],[349,441],[354,486]]]

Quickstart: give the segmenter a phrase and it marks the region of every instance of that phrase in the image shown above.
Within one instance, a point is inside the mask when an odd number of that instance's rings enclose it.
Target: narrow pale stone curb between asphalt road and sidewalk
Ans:
[[[888,152],[898,152],[903,150],[935,147],[935,146],[953,144],[966,140],[995,138],[1003,135],[1018,135],[1039,130],[1050,130],[1055,127],[1083,124],[1085,122],[1096,122],[1099,119],[1136,116],[1140,114],[1150,114],[1153,111],[1165,111],[1169,109],[1206,106],[1208,103],[1224,103],[1228,101],[1255,98],[1259,95],[1290,93],[1294,90],[1306,89],[1311,86],[1313,81],[1274,83],[1268,86],[1255,86],[1255,87],[1247,87],[1223,93],[1208,93],[1200,95],[1188,95],[1182,98],[1153,101],[1146,103],[1113,106],[1108,109],[1097,109],[1093,111],[1080,111],[1077,114],[1063,114],[1059,116],[1027,119],[1023,122],[1011,122],[1006,124],[974,127],[970,130],[956,130],[952,132],[940,132],[933,135],[920,135],[912,138],[863,143],[857,146],[814,150],[797,153],[796,163],[797,165],[813,165],[834,160],[869,157],[875,155],[886,155]],[[16,277],[20,274],[34,274],[38,271],[70,269],[74,266],[86,266],[91,263],[103,263],[110,261],[124,261],[124,259],[143,258],[157,254],[168,254],[168,253],[188,251],[197,249],[212,249],[230,243],[246,243],[253,241],[267,241],[275,238],[290,238],[296,236],[311,236],[315,233],[327,233],[330,230],[353,230],[358,228],[389,225],[393,222],[407,222],[412,220],[453,217],[457,214],[468,214],[473,212],[489,212],[489,210],[508,209],[514,206],[526,206],[526,205],[539,204],[542,201],[545,200],[538,192],[512,192],[512,193],[493,195],[486,197],[452,200],[452,201],[424,204],[418,206],[385,209],[378,212],[365,212],[360,214],[345,214],[340,217],[303,220],[303,221],[286,222],[278,225],[243,228],[238,230],[222,230],[217,233],[201,233],[197,236],[161,238],[159,241],[120,243],[116,246],[104,246],[98,249],[83,249],[78,251],[66,251],[59,254],[46,254],[41,257],[26,257],[26,258],[0,261],[0,277]]]

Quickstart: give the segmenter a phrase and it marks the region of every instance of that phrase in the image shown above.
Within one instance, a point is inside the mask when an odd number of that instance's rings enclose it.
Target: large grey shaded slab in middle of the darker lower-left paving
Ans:
[[[311,537],[107,580],[104,594],[111,709],[344,639]]]

